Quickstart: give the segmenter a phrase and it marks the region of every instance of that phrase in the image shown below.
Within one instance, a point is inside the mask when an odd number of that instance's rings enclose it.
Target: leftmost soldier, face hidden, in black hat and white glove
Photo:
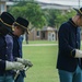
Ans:
[[[14,82],[12,70],[23,70],[24,66],[21,62],[13,62],[11,60],[11,55],[7,52],[8,46],[5,40],[5,35],[11,32],[14,17],[8,13],[3,12],[0,15],[0,82]]]

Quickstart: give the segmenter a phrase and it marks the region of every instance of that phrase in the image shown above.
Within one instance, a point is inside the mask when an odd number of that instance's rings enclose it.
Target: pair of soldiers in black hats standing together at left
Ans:
[[[27,27],[28,21],[21,16],[15,20],[8,12],[0,15],[0,82],[24,82],[24,68],[33,66],[28,59],[22,58],[22,43],[19,40]],[[14,70],[21,70],[15,81]]]

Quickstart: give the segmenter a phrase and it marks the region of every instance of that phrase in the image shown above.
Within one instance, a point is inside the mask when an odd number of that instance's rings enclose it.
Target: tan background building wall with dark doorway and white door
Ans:
[[[43,35],[44,34],[44,35]],[[54,34],[54,37],[52,37]],[[55,31],[39,31],[39,36],[37,36],[37,30],[33,30],[28,34],[28,40],[56,40]]]

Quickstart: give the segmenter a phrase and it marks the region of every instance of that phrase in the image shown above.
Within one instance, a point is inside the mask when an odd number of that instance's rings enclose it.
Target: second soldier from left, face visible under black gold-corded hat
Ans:
[[[25,66],[32,67],[32,62],[26,59],[22,59],[21,49],[22,44],[20,44],[19,38],[21,35],[23,35],[25,32],[27,32],[28,21],[19,16],[16,21],[13,24],[14,31],[13,31],[13,56],[16,58],[15,60],[19,62],[22,62]],[[15,80],[15,82],[24,82],[25,73],[24,71],[21,71],[19,78]]]

